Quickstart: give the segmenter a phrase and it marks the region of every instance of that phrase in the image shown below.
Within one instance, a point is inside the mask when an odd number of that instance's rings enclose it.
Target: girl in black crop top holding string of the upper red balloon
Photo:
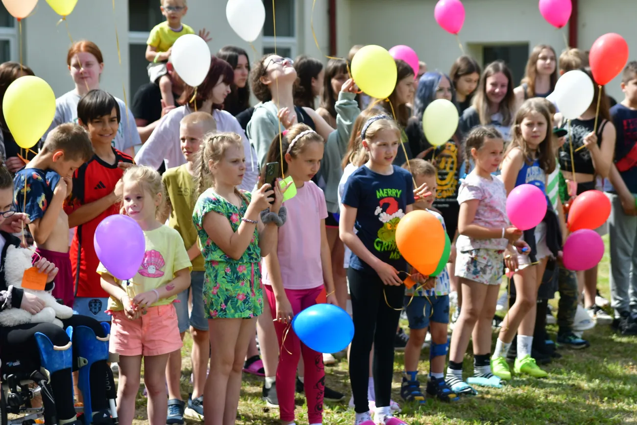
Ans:
[[[593,80],[590,68],[585,68],[584,71]],[[559,123],[558,126],[565,127],[569,131],[569,134],[566,135],[566,143],[559,151],[562,175],[571,182],[571,189],[575,189],[569,191],[569,196],[577,196],[582,192],[598,189],[600,185],[596,180],[608,178],[610,167],[613,164],[617,132],[610,117],[608,97],[604,87],[601,89],[599,119],[596,119],[598,97],[599,90],[595,89],[589,108],[580,117],[571,120],[569,124],[560,113],[555,114],[555,122]],[[598,125],[597,128],[594,128],[596,121]],[[595,130],[594,133],[593,130]],[[585,148],[578,150],[582,146]],[[571,162],[571,148],[573,149],[573,162]],[[608,233],[608,225],[603,224],[596,231],[603,236]],[[598,266],[578,272],[579,293],[582,293],[583,290],[584,306],[589,308],[589,315],[599,324],[610,324],[613,318],[595,303],[597,280]]]

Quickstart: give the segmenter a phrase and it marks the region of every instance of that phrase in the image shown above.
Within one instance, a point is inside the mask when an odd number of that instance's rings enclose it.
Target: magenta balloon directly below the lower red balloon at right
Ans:
[[[562,252],[562,261],[568,270],[589,270],[604,256],[604,241],[594,230],[577,230],[566,238]]]

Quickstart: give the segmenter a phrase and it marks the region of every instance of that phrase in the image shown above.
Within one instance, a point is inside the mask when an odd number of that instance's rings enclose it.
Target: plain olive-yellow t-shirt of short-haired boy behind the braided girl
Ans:
[[[162,181],[171,205],[168,226],[179,232],[183,239],[183,245],[186,250],[189,250],[192,245],[197,243],[197,229],[192,223],[192,210],[197,202],[194,180],[186,169],[186,164],[183,164],[166,170]],[[192,270],[206,270],[201,254],[192,260]]]

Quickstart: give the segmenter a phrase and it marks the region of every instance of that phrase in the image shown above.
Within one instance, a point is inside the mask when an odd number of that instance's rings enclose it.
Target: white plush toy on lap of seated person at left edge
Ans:
[[[22,288],[22,276],[24,271],[32,267],[32,252],[24,248],[16,248],[12,245],[6,251],[4,259],[4,279],[6,284]],[[54,323],[62,328],[62,322],[59,319],[68,319],[73,315],[73,308],[61,305],[55,301],[54,296],[49,291],[34,291],[32,289],[24,289],[38,296],[44,301],[45,308],[39,313],[31,314],[22,308],[8,308],[0,312],[0,324],[3,326],[15,326],[24,323]]]

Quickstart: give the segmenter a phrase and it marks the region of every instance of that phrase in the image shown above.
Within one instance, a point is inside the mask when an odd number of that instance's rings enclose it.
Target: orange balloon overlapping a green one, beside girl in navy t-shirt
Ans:
[[[396,245],[407,263],[429,276],[445,250],[445,229],[432,213],[413,210],[396,227]]]

